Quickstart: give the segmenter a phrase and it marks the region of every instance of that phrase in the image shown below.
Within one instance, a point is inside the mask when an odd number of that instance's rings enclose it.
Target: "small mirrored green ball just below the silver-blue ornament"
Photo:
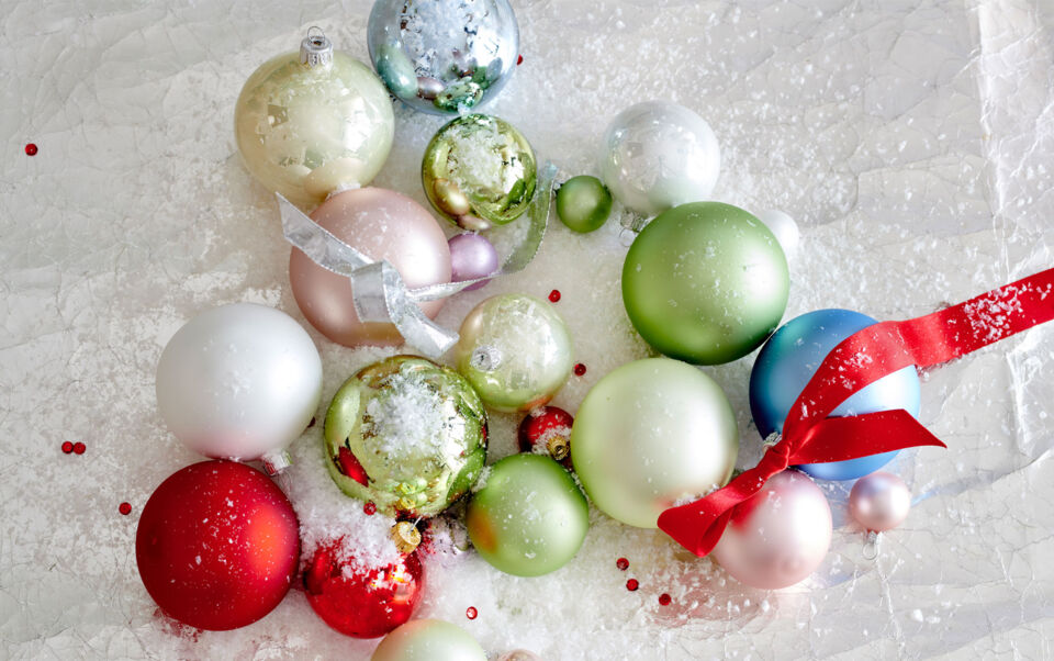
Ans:
[[[537,177],[527,138],[508,122],[481,114],[458,117],[440,128],[421,165],[425,194],[436,211],[474,231],[523,215],[535,195]]]

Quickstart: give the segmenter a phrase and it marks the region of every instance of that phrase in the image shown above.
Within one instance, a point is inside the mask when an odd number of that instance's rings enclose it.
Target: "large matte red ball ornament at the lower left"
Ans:
[[[135,561],[175,619],[214,631],[270,613],[292,584],[300,528],[289,498],[260,471],[202,461],[161,482],[143,507]]]

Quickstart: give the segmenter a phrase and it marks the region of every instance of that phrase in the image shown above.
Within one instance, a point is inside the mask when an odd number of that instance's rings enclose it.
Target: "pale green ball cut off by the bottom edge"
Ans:
[[[371,661],[486,661],[469,634],[441,619],[412,619],[381,640]]]

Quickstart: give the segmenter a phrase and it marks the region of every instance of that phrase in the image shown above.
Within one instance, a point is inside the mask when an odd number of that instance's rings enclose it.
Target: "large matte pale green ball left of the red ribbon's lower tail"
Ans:
[[[680,501],[722,486],[739,452],[736,415],[721,388],[669,358],[626,363],[597,381],[571,427],[571,460],[593,504],[654,528]]]

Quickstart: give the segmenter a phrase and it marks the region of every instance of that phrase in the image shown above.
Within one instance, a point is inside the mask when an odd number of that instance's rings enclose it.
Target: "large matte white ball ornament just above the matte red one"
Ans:
[[[206,457],[288,464],[283,448],[322,396],[322,359],[288,314],[253,303],[204,312],[157,363],[157,407],[171,433]]]

